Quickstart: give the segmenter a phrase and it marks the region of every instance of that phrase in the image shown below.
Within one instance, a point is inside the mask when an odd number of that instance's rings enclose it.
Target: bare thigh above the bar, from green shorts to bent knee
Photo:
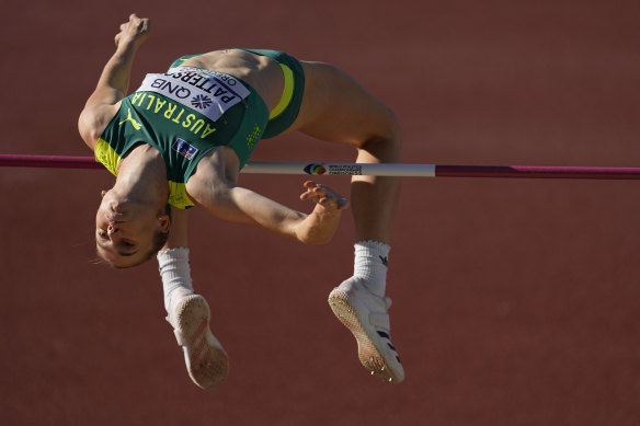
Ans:
[[[305,95],[292,130],[356,147],[373,138],[395,137],[396,117],[357,81],[327,64],[300,64]]]

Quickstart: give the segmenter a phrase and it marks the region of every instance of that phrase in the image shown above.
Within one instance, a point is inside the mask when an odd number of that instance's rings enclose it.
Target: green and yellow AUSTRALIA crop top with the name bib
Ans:
[[[247,163],[268,122],[260,95],[241,80],[194,67],[147,74],[95,145],[95,160],[114,175],[121,159],[138,142],[160,151],[167,165],[169,204],[193,207],[185,189],[198,161],[228,146]]]

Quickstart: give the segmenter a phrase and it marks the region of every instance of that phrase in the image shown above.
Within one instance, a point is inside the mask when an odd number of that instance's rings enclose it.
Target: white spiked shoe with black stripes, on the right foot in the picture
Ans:
[[[352,277],[331,291],[329,304],[357,341],[362,365],[384,381],[404,380],[404,369],[391,344],[387,313],[391,299],[374,295],[361,279]]]

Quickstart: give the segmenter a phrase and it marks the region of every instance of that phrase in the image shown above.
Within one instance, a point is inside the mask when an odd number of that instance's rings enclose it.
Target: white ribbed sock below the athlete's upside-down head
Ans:
[[[188,265],[188,249],[169,249],[158,253],[157,257],[164,291],[164,309],[171,313],[172,300],[178,301],[194,292]]]

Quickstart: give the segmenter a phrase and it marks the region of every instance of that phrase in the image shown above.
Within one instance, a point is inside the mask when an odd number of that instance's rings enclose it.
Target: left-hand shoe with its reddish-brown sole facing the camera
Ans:
[[[220,342],[209,330],[210,311],[204,297],[191,295],[180,300],[167,321],[173,326],[178,344],[184,350],[188,376],[203,389],[220,384],[227,378],[229,359]]]

